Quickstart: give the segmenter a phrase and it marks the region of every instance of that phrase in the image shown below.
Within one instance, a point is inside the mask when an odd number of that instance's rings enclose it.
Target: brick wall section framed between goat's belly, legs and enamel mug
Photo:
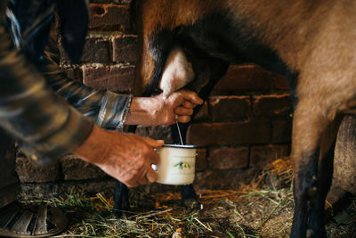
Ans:
[[[231,65],[188,130],[201,150],[198,183],[238,186],[288,155],[292,108],[286,78],[253,64]]]

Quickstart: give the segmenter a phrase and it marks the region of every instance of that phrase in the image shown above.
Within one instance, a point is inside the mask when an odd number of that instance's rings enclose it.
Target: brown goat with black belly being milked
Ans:
[[[177,51],[193,70],[181,65],[187,87],[203,97],[229,62],[254,62],[289,79],[295,171],[290,236],[325,237],[337,128],[356,105],[356,2],[133,0],[131,8],[140,44],[137,93],[158,87]],[[180,78],[172,72],[160,84],[166,95]]]

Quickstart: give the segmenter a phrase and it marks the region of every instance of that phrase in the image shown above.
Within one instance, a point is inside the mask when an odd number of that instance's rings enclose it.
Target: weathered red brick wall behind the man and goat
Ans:
[[[94,88],[134,91],[137,36],[129,25],[129,2],[91,1],[82,62],[69,64],[61,50],[61,66],[70,77]],[[286,157],[291,121],[285,78],[248,63],[232,65],[188,131],[188,143],[199,147],[195,185],[232,188],[248,182],[271,160]],[[169,127],[141,127],[139,132],[170,141]],[[17,172],[25,192],[47,187],[60,193],[62,185],[85,185],[86,190],[99,192],[102,183],[113,185],[100,169],[73,156],[49,169],[34,168],[19,158]]]

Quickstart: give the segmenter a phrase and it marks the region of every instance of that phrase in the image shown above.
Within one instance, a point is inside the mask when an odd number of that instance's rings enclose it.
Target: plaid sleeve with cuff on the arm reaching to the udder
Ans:
[[[132,95],[116,94],[107,90],[95,90],[77,80],[68,78],[49,53],[36,68],[53,90],[95,124],[104,128],[121,128],[129,110]]]

